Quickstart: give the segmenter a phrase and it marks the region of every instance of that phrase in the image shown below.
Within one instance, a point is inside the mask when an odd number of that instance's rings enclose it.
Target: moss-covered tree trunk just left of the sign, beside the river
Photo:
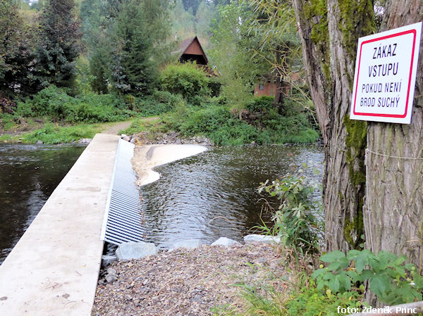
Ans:
[[[310,94],[324,138],[326,251],[358,248],[365,122],[350,121],[357,39],[371,32],[372,1],[293,0]]]

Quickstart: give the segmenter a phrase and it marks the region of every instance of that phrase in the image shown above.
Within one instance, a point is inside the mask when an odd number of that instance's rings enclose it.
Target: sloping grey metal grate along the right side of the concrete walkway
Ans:
[[[115,245],[142,241],[144,235],[140,191],[135,184],[137,175],[130,162],[134,148],[135,145],[119,139],[102,227],[102,240]]]

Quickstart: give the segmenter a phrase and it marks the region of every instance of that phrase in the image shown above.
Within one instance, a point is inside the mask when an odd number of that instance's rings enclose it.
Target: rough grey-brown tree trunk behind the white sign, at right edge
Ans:
[[[421,0],[388,0],[381,30],[423,20]],[[422,41],[423,43],[423,41]],[[366,153],[366,246],[407,255],[422,269],[423,46],[410,125],[369,122]]]

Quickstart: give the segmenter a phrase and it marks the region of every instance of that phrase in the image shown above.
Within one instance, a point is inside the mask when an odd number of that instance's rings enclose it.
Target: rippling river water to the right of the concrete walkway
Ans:
[[[156,168],[161,179],[141,188],[147,239],[161,247],[175,239],[240,241],[260,223],[259,199],[267,198],[257,192],[260,182],[298,173],[306,163],[307,178],[319,183],[312,168],[321,170],[322,161],[317,145],[226,146]]]

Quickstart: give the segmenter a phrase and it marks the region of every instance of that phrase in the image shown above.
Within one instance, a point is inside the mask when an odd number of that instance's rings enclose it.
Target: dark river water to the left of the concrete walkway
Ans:
[[[0,263],[84,149],[0,145]]]

